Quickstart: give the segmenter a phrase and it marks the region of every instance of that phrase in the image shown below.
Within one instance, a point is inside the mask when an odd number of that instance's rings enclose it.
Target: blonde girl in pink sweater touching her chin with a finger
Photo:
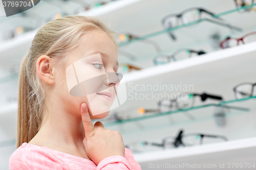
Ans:
[[[66,68],[95,54],[102,63],[92,62],[92,69],[117,71],[115,33],[99,19],[66,16],[38,30],[20,67],[17,149],[10,170],[141,169],[119,132],[92,124],[91,118],[104,118],[109,111],[92,115],[90,105],[104,107],[110,99],[97,93],[89,105],[86,97],[69,93]],[[102,86],[110,84],[115,85]]]

